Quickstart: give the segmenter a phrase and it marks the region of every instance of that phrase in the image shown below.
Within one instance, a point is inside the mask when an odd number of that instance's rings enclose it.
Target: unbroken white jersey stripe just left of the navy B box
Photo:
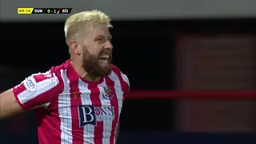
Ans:
[[[64,82],[64,90],[58,96],[58,114],[61,119],[61,144],[72,143],[72,115],[70,109],[70,80],[66,74],[66,70],[61,70]]]

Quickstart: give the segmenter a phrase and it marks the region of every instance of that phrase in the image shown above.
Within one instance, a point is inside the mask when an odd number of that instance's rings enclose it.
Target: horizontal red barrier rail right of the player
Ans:
[[[128,99],[227,99],[250,100],[256,99],[256,90],[130,90]]]

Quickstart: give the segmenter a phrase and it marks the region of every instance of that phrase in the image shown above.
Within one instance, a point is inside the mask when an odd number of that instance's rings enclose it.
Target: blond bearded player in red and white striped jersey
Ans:
[[[66,19],[70,59],[0,95],[0,118],[35,109],[42,144],[114,144],[130,82],[111,64],[110,18],[98,10]]]

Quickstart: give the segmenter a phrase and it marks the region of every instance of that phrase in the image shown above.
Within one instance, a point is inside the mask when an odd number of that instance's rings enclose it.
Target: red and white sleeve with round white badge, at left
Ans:
[[[51,102],[58,94],[59,83],[58,77],[50,71],[32,74],[21,84],[14,86],[13,92],[22,109],[30,110]]]

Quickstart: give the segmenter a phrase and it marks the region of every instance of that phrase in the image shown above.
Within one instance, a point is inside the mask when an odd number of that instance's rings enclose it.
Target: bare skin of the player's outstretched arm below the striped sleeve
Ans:
[[[0,94],[0,120],[24,111],[14,96],[12,89]]]

